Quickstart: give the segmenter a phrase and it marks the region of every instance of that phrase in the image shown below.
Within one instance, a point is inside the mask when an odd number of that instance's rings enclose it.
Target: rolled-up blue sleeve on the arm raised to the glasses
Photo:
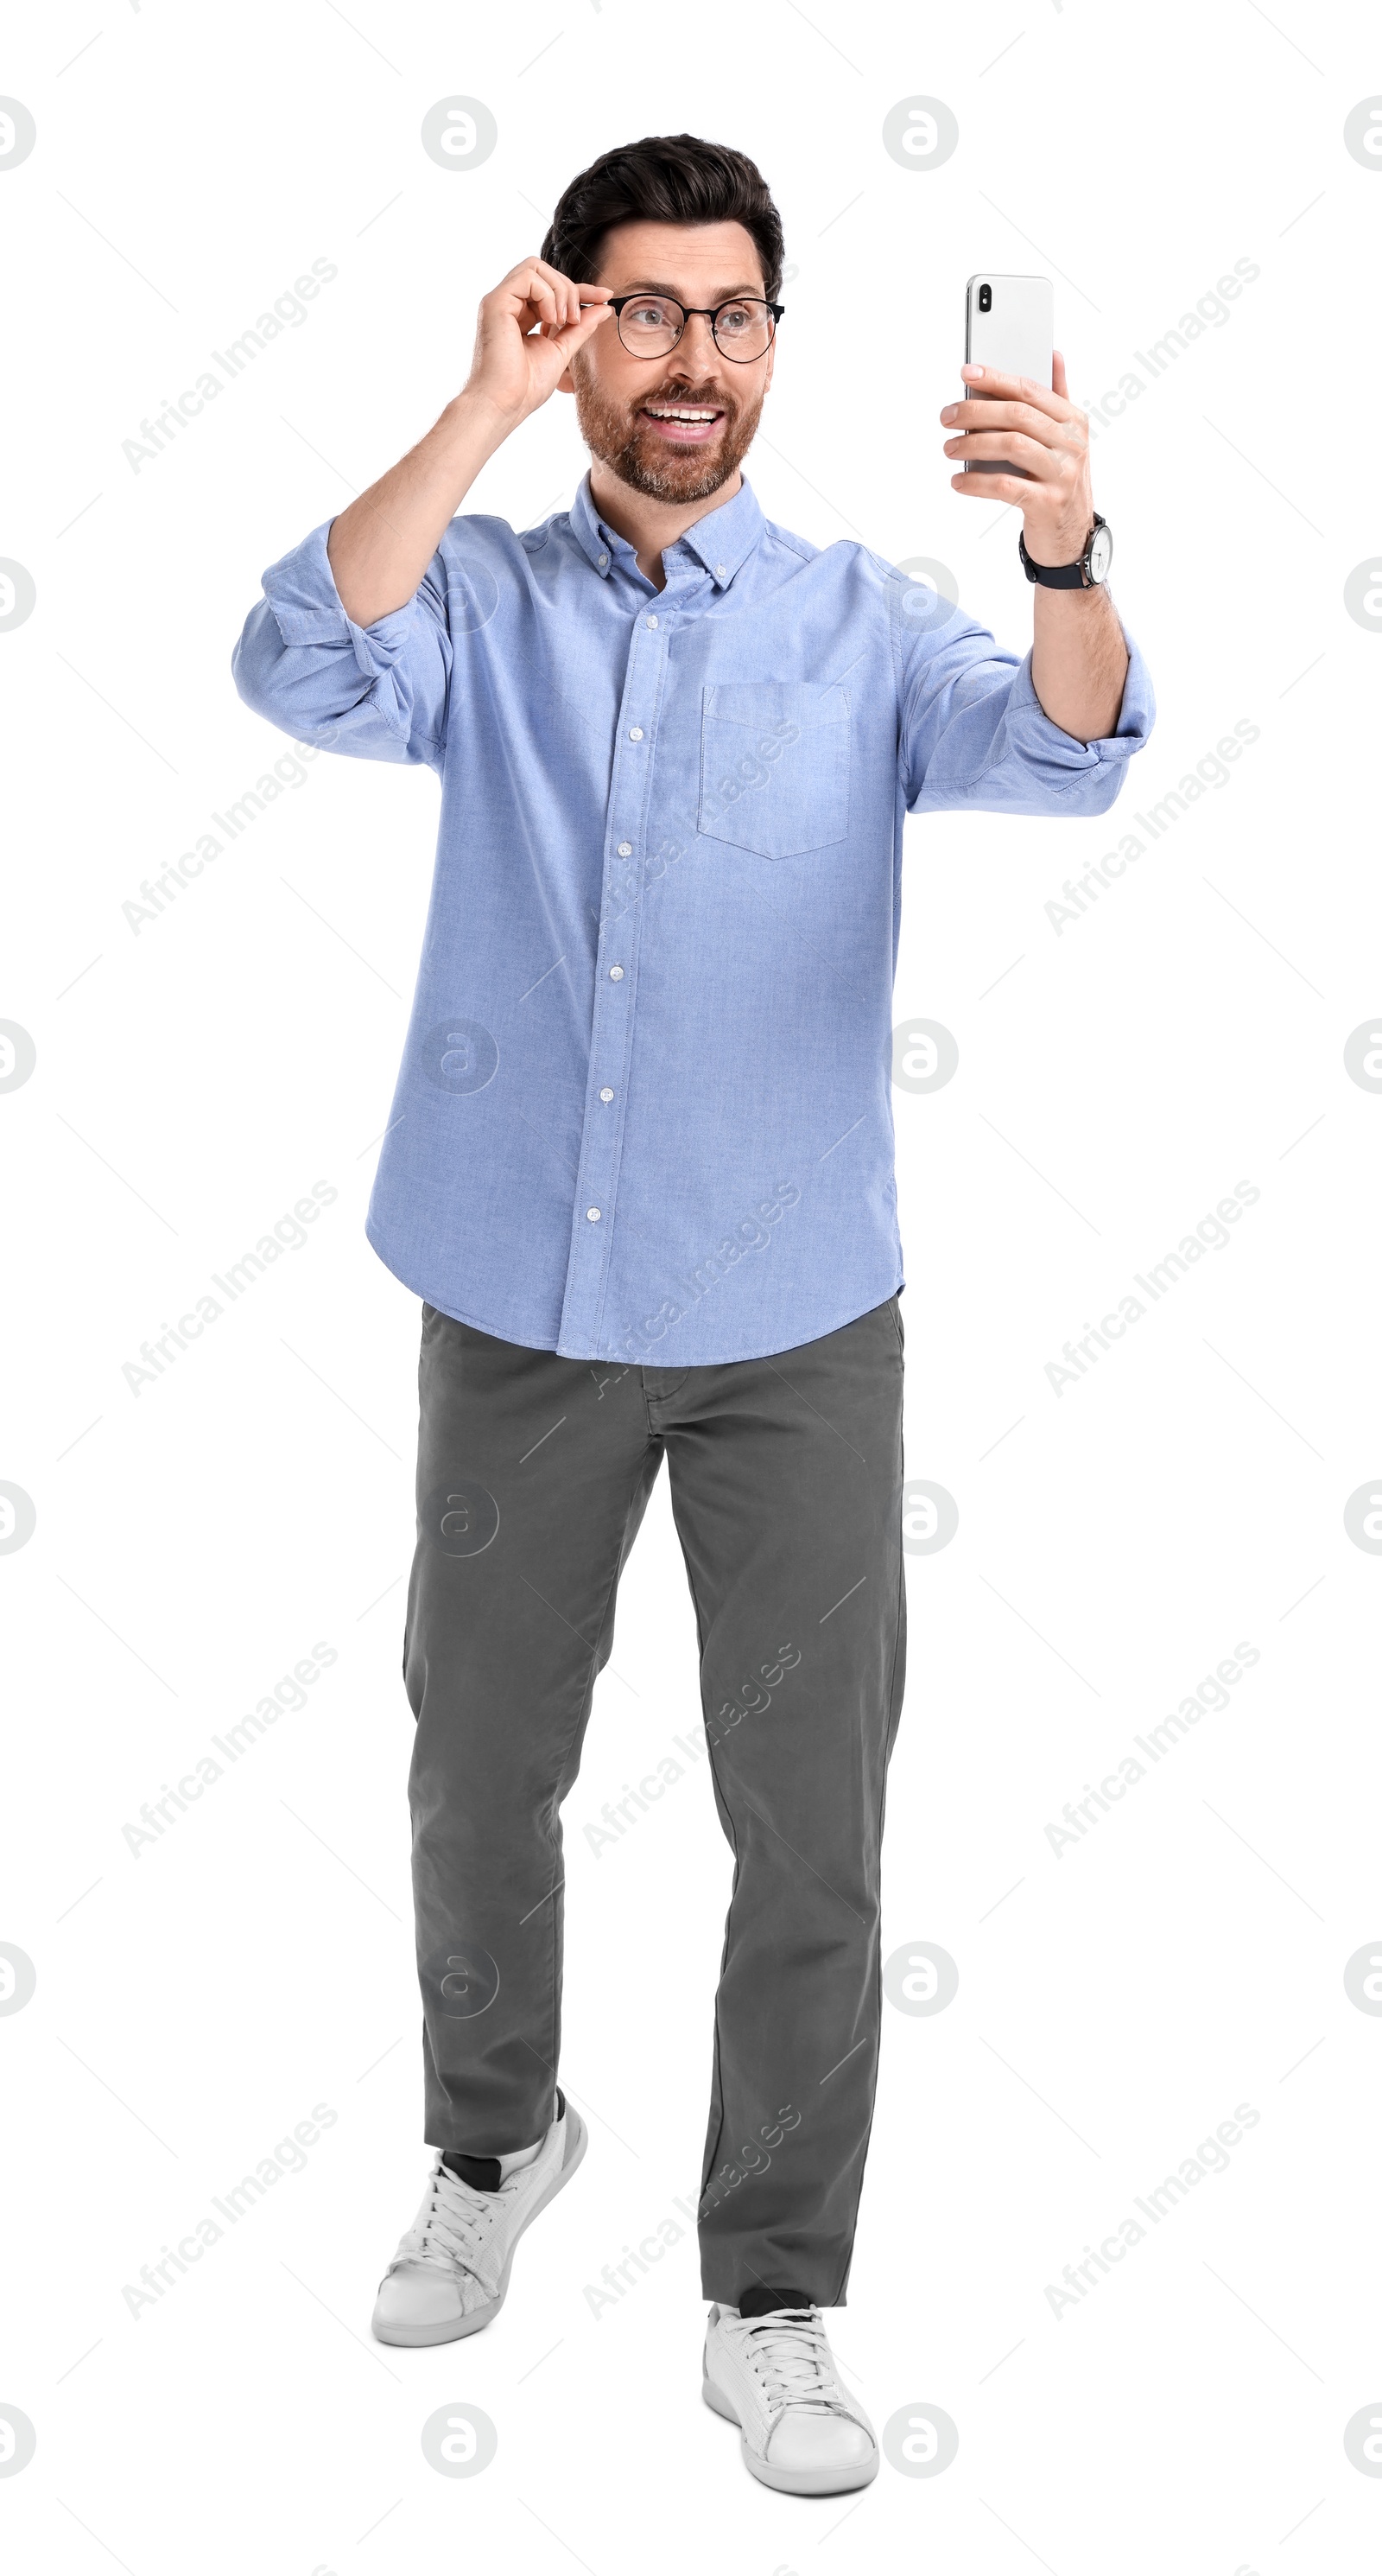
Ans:
[[[450,683],[445,562],[432,556],[404,608],[355,626],[327,559],[324,520],[270,564],[232,654],[239,696],[293,742],[353,760],[440,768]]]

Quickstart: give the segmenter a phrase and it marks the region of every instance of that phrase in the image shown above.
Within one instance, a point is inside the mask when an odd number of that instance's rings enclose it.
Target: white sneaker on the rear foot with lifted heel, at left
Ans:
[[[427,2197],[399,2241],[373,2308],[381,2344],[450,2344],[499,2316],[522,2231],[587,2151],[587,2128],[569,2102],[548,2128],[533,2164],[520,2164],[497,2192],[476,2192],[443,2164],[440,2148]]]

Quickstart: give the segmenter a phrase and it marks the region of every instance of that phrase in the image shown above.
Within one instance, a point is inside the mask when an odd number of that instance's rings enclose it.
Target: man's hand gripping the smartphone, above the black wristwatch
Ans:
[[[1050,389],[993,366],[960,368],[968,402],[947,402],[942,422],[955,435],[947,456],[1001,459],[1022,474],[952,474],[950,489],[970,500],[1009,500],[1022,510],[1022,538],[1035,564],[1073,564],[1094,526],[1089,482],[1089,415],[1065,392],[1065,361],[1053,350]]]

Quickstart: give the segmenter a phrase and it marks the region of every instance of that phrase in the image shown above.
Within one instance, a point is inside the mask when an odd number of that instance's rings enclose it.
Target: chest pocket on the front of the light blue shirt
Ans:
[[[703,690],[700,832],[757,858],[829,850],[849,829],[849,698],[821,680]]]

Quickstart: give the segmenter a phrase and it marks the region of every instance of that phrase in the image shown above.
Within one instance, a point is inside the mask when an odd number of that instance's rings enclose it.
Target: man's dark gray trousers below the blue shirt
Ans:
[[[898,1298],[769,1360],[587,1365],[422,1306],[404,1680],[427,2141],[543,2133],[561,1801],[667,1453],[733,1850],[697,2205],[705,2298],[839,2306],[878,2076],[903,1698]],[[576,2087],[579,2099],[579,2087]]]

